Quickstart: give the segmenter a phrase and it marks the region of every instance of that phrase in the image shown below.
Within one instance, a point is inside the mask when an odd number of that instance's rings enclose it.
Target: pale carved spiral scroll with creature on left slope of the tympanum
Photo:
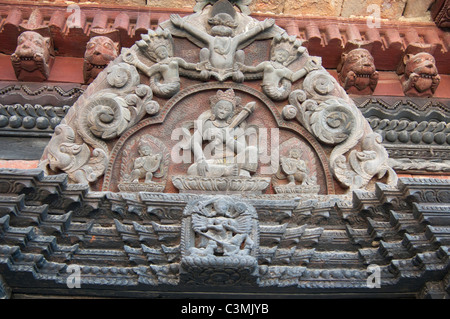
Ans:
[[[75,183],[95,182],[109,160],[107,141],[120,137],[146,114],[159,112],[151,88],[140,84],[134,66],[112,64],[103,74],[91,84],[93,93],[80,97],[69,111],[41,160],[47,171],[65,172]]]

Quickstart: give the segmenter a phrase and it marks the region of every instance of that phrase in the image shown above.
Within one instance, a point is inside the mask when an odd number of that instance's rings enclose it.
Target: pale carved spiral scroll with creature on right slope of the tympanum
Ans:
[[[333,147],[329,163],[334,177],[350,189],[365,188],[370,180],[397,176],[388,165],[381,136],[374,133],[337,81],[325,70],[311,72],[302,90],[289,96],[283,109],[287,120],[297,119],[320,142]],[[356,148],[361,145],[362,150]],[[348,156],[346,154],[350,151]]]

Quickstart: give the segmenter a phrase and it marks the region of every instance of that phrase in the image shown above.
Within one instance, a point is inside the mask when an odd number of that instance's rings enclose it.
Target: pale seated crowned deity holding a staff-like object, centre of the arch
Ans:
[[[233,89],[219,90],[210,99],[211,111],[197,120],[192,136],[194,164],[188,175],[205,177],[250,177],[257,169],[256,130],[245,119],[253,112],[255,103],[248,103],[239,114],[240,99]],[[204,147],[204,144],[207,145]]]

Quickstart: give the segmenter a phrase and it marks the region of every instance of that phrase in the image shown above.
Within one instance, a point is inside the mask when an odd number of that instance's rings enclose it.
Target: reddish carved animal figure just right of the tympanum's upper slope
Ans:
[[[339,82],[350,94],[372,94],[378,84],[379,74],[372,55],[366,49],[354,49],[342,54]]]

